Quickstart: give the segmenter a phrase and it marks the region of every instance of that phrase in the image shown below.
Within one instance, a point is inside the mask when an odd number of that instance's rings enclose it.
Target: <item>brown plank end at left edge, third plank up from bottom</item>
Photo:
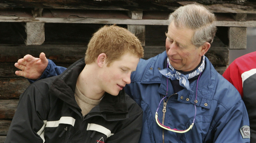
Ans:
[[[0,119],[12,119],[18,103],[19,100],[0,100]]]

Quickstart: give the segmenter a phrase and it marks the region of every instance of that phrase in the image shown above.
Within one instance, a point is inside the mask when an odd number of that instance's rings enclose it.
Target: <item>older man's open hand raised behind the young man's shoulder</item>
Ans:
[[[19,59],[14,66],[22,71],[15,71],[18,76],[24,76],[28,79],[38,79],[48,65],[48,60],[44,53],[40,53],[39,58],[26,55]]]

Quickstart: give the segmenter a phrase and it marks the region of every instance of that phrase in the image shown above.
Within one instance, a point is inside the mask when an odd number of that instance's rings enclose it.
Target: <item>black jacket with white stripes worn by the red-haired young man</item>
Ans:
[[[142,110],[121,90],[105,94],[86,116],[75,101],[75,85],[84,59],[59,76],[31,84],[20,96],[6,143],[135,143]]]

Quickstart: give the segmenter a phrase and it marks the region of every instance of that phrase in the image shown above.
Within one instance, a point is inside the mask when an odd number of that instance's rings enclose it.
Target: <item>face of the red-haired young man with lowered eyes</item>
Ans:
[[[118,95],[126,84],[131,83],[131,73],[138,63],[139,57],[126,53],[110,66],[104,66],[102,89],[111,95]]]

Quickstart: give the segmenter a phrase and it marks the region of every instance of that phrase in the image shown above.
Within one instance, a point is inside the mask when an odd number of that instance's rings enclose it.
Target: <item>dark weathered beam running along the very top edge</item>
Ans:
[[[214,12],[246,13],[255,11],[255,3],[246,0],[193,0],[193,2],[180,2],[178,0],[5,0],[0,2],[0,7],[173,11],[181,5],[195,2],[209,5],[209,9]]]

